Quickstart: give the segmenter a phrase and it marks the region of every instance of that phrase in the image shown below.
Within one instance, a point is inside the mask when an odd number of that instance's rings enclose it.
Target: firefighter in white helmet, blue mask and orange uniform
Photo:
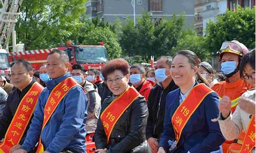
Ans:
[[[219,82],[212,86],[212,90],[216,91],[219,98],[222,99],[223,96],[228,96],[231,100],[231,112],[233,113],[236,110],[238,105],[238,99],[240,96],[252,88],[247,82],[240,78],[239,67],[242,57],[248,53],[248,48],[240,43],[237,40],[225,41],[221,46],[221,53],[219,58],[221,60],[221,71],[224,73],[226,80]],[[222,119],[227,118],[228,116],[222,116]],[[229,146],[232,143],[239,143],[240,140],[243,140],[244,133],[238,137],[238,139],[233,141],[225,141],[222,144],[223,152],[228,152]]]

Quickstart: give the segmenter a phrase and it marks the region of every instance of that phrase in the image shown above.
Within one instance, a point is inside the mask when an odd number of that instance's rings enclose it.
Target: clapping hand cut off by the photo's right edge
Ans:
[[[238,100],[238,105],[241,110],[245,111],[248,114],[255,115],[255,101],[249,98],[241,97]]]

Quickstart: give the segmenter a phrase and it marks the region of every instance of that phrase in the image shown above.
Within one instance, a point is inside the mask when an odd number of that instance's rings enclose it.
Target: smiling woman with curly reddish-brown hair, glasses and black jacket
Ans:
[[[114,95],[106,98],[101,107],[95,132],[96,152],[150,152],[145,141],[146,101],[128,85],[128,62],[111,60],[102,68],[102,74]]]

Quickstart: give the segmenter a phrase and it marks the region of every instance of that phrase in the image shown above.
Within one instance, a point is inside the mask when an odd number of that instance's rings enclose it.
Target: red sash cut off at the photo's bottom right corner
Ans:
[[[241,153],[247,153],[251,152],[252,148],[255,147],[255,120],[254,120],[254,115],[252,115],[245,138],[244,142],[242,145]]]

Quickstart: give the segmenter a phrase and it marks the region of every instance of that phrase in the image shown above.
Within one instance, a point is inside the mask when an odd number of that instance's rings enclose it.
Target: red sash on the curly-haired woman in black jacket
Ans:
[[[100,119],[104,127],[107,142],[118,119],[123,112],[133,104],[134,100],[140,96],[139,92],[133,87],[128,87],[119,97],[114,99],[111,104],[101,113]]]

